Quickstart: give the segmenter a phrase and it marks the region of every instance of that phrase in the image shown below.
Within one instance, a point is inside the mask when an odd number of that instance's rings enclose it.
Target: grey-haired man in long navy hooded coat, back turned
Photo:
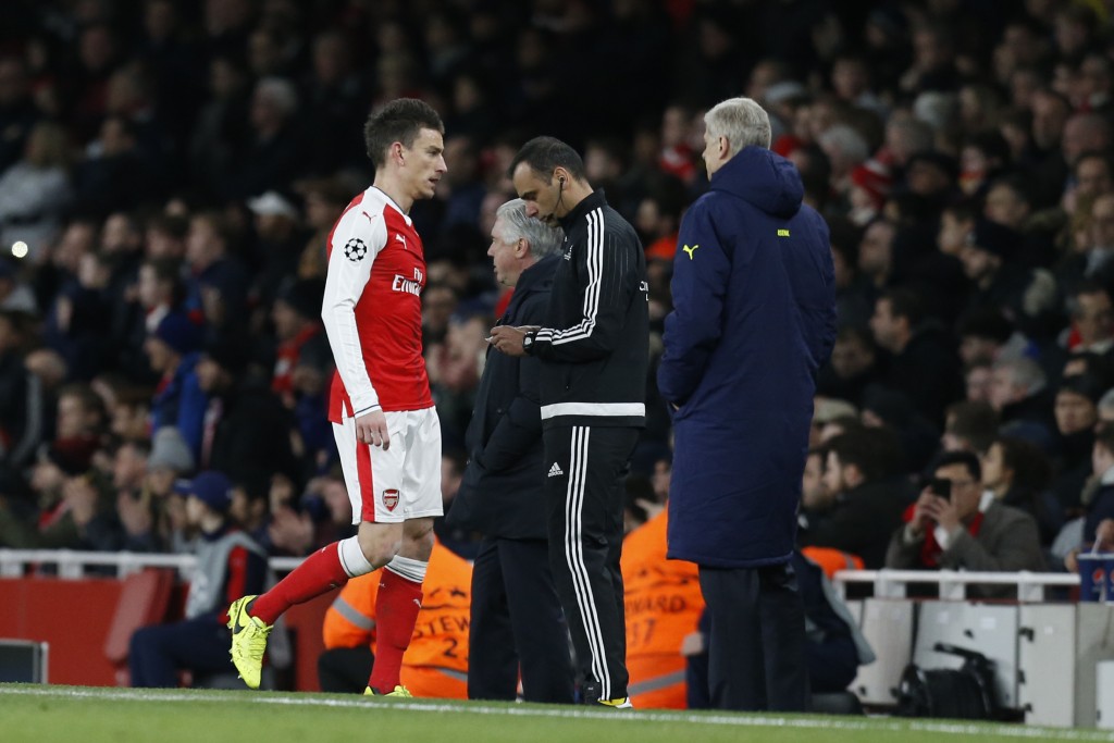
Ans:
[[[674,407],[668,556],[700,565],[714,706],[800,710],[804,615],[790,566],[815,373],[836,339],[828,226],[749,98],[704,117],[711,187],[674,260],[658,388]]]

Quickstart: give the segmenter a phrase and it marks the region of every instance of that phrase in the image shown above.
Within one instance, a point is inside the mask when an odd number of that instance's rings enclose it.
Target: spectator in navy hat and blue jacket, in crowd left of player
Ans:
[[[168,312],[147,335],[144,352],[159,375],[152,399],[152,430],[176,426],[196,456],[201,450],[205,393],[197,384],[202,329],[184,312]]]

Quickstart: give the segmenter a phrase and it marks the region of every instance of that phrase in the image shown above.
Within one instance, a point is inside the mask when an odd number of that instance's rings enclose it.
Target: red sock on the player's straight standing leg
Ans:
[[[368,685],[390,694],[399,685],[402,654],[410,646],[418,612],[421,610],[421,584],[384,569],[375,597],[375,665]]]

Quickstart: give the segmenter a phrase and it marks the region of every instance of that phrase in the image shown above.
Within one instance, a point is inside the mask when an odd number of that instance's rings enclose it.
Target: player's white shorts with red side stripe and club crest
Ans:
[[[441,516],[441,421],[436,408],[384,413],[391,447],[355,440],[355,419],[333,423],[352,524]]]

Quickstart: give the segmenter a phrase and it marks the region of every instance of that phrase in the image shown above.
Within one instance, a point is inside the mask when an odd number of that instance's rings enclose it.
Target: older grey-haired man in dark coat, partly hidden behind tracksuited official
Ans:
[[[560,243],[561,232],[530,218],[526,202],[499,207],[488,255],[499,283],[515,287],[501,325],[541,322]],[[568,630],[546,544],[539,366],[488,352],[465,437],[471,459],[447,517],[485,536],[472,569],[472,700],[514,700],[521,668],[528,702],[573,701]]]

